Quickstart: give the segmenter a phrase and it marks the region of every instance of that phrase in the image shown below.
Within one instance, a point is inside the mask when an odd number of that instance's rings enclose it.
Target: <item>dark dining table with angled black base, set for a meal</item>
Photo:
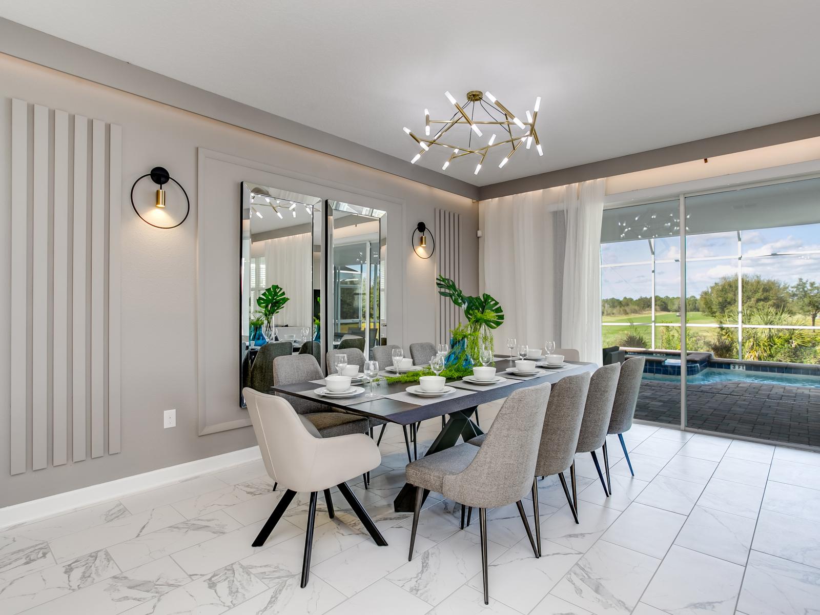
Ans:
[[[495,358],[494,363],[497,375],[504,378],[503,383],[468,385],[462,380],[448,380],[447,384],[453,387],[454,392],[437,398],[416,397],[408,393],[406,389],[417,383],[390,383],[384,376],[380,376],[379,380],[373,383],[373,393],[376,394],[373,398],[365,397],[364,393],[353,399],[322,397],[315,391],[322,388],[323,380],[299,382],[293,385],[275,385],[271,388],[271,393],[309,399],[335,411],[350,412],[361,417],[379,418],[402,426],[411,426],[431,418],[447,416],[448,419],[444,422],[439,435],[435,437],[425,453],[431,455],[455,446],[458,444],[459,437],[466,442],[484,433],[481,427],[472,420],[476,408],[482,403],[504,399],[512,391],[528,386],[543,385],[547,382],[554,384],[566,376],[581,374],[585,371],[592,372],[598,367],[595,363],[566,362],[564,367],[558,370],[539,367],[536,370],[537,376],[521,377],[507,372],[509,368],[515,367],[512,359]],[[367,386],[367,384],[364,385],[366,390]],[[414,510],[415,489],[413,485],[405,483],[394,499],[396,512]]]

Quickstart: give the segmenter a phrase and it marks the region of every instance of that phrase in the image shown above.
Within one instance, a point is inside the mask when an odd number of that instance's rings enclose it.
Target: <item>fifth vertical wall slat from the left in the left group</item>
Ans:
[[[91,124],[91,457],[103,456],[105,421],[105,122]]]

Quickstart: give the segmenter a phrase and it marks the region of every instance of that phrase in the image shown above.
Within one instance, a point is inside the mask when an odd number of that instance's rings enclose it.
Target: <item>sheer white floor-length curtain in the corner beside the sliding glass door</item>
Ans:
[[[482,292],[506,315],[495,352],[508,337],[543,348],[577,348],[601,361],[599,248],[605,180],[480,203]]]

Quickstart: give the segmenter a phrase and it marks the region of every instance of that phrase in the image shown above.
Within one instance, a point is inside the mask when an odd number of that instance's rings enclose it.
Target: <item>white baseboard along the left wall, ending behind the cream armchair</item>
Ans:
[[[213,471],[224,470],[261,458],[258,446],[249,449],[240,449],[231,453],[197,459],[196,461],[180,463],[178,466],[162,467],[159,470],[135,474],[125,478],[109,481],[99,485],[90,485],[62,494],[49,495],[47,498],[34,499],[0,508],[0,528],[14,526],[18,523],[28,523],[53,517],[79,508],[86,508],[92,504],[118,499],[125,495],[156,489],[163,485],[184,481],[186,478],[207,474]]]

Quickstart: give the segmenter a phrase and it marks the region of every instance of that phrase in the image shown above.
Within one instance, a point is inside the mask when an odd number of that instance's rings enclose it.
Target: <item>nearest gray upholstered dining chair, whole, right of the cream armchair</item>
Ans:
[[[538,444],[549,401],[549,383],[518,389],[504,401],[481,447],[458,444],[408,464],[407,481],[416,486],[416,506],[412,517],[410,553],[416,542],[418,518],[425,491],[443,494],[464,506],[479,509],[481,528],[481,568],[484,576],[484,604],[489,604],[487,580],[487,508],[515,503],[526,528],[533,553],[538,548],[522,499],[535,476]]]

